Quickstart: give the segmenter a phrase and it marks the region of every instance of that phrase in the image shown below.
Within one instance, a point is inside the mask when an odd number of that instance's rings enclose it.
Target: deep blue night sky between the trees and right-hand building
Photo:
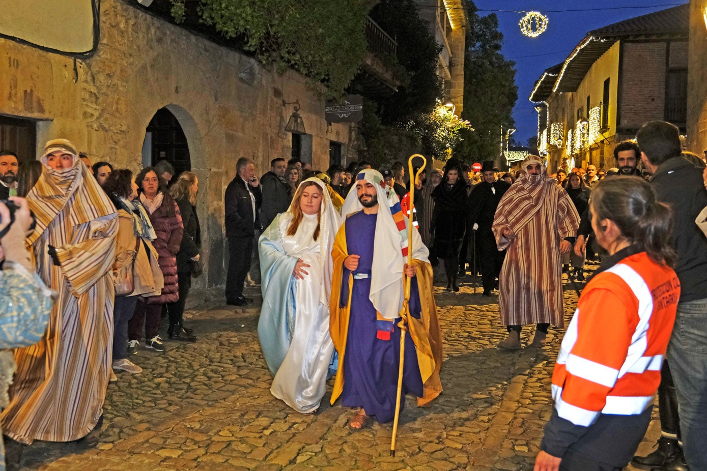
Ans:
[[[513,119],[518,131],[513,137],[525,145],[527,139],[537,132],[537,113],[533,109],[533,104],[528,101],[528,97],[542,71],[563,62],[590,30],[687,2],[679,0],[474,0],[474,3],[479,8],[480,16],[488,15],[491,10],[496,11],[498,27],[503,32],[503,55],[506,59],[515,61],[518,102],[513,109]],[[620,6],[648,6],[648,8],[558,11]],[[521,34],[518,25],[525,13],[506,13],[497,11],[499,9],[539,11],[548,18],[547,30],[539,37],[526,37]]]

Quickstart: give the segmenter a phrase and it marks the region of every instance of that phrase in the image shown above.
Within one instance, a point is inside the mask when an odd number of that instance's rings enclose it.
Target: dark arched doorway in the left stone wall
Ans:
[[[160,108],[147,125],[142,148],[144,166],[167,160],[175,167],[175,175],[192,169],[189,145],[177,117],[169,109]]]

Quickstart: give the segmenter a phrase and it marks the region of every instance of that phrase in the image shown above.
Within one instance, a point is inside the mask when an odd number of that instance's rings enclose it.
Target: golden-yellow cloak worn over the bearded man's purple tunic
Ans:
[[[354,287],[354,277],[349,274],[349,299],[346,306],[339,306],[341,296],[341,281],[344,275],[344,258],[349,256],[346,251],[346,222],[341,226],[334,241],[332,258],[334,275],[332,278],[332,298],[329,303],[329,333],[332,335],[334,347],[339,352],[339,369],[332,390],[332,405],[344,390],[344,356],[346,355],[346,337],[349,333],[349,315],[351,314],[351,293]],[[431,402],[442,392],[440,368],[442,366],[442,333],[437,320],[437,310],[432,294],[432,267],[429,263],[413,260],[417,274],[411,282],[417,282],[422,313],[420,318],[409,316],[408,331],[415,343],[416,354],[423,383],[423,396],[417,398],[417,405],[423,406]],[[402,282],[402,281],[401,281]]]

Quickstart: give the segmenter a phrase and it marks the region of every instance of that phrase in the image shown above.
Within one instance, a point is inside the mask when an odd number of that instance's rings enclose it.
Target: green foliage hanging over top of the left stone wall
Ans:
[[[185,0],[171,0],[180,22]],[[200,0],[202,23],[223,37],[243,37],[245,49],[265,64],[295,68],[340,97],[366,54],[370,0]]]

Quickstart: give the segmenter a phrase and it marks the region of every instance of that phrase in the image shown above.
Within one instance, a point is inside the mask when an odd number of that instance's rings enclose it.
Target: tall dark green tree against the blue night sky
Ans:
[[[492,13],[479,16],[472,0],[467,0],[469,28],[464,57],[464,110],[462,118],[474,126],[474,132],[462,132],[464,141],[455,155],[466,162],[495,160],[500,153],[503,132],[513,127],[513,107],[518,100],[515,85],[515,62],[501,54],[503,34],[498,18]]]

